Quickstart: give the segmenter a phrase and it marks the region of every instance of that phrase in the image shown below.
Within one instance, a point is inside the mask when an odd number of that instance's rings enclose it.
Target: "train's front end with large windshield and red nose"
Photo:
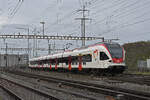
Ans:
[[[111,56],[108,69],[113,73],[122,73],[127,66],[125,65],[125,51],[118,43],[105,43]]]

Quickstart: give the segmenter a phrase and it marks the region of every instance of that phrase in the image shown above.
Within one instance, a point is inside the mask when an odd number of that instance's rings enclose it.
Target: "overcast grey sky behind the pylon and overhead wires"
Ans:
[[[75,18],[81,17],[77,10],[83,3],[92,19],[86,21],[86,36],[119,38],[121,44],[150,40],[150,0],[0,0],[0,34],[27,33],[18,27],[29,27],[32,34],[35,28],[41,31],[40,21],[45,21],[47,35],[81,36],[80,21]],[[24,41],[7,40],[10,47],[26,47]],[[81,45],[80,41],[55,41],[57,48],[68,42],[74,44],[72,48]],[[47,41],[39,43],[47,48]]]

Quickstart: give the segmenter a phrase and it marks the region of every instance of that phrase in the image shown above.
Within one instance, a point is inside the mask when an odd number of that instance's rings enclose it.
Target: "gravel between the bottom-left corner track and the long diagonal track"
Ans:
[[[37,84],[36,88],[40,88],[40,89],[42,89],[42,90],[44,90],[44,91],[46,91],[48,93],[51,93],[53,95],[57,94],[57,96],[59,95],[59,97],[63,98],[64,100],[87,100],[87,99],[81,98],[81,97],[77,97],[77,96],[73,96],[73,95],[70,95],[68,93],[64,94],[62,92],[56,91],[57,89],[65,89],[66,91],[84,93],[85,95],[88,95],[88,96],[91,95],[91,96],[94,96],[94,97],[99,98],[101,100],[108,100],[108,99],[106,99],[106,96],[98,94],[98,93],[89,92],[86,89],[77,89],[77,88],[64,86],[64,85],[62,85],[61,87],[58,87],[58,84],[56,84],[56,83],[49,83],[49,82],[46,82],[46,81],[41,81],[41,80],[38,80],[38,79],[27,78],[27,77],[13,75],[13,74],[9,74],[9,76],[10,75],[11,75],[11,77],[15,77],[15,78],[20,79],[20,80],[27,80],[30,83],[34,83],[35,84],[35,82],[36,82],[36,84]],[[47,86],[49,88],[54,88],[55,87],[56,90],[44,88],[40,84],[42,84],[44,86]]]

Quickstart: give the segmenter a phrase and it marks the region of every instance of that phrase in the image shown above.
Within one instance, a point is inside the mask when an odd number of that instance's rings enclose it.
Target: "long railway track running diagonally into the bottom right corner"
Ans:
[[[48,82],[54,82],[58,84],[60,83],[62,85],[67,85],[71,87],[84,88],[89,91],[93,91],[105,95],[111,95],[114,97],[121,95],[125,100],[150,100],[150,93],[147,92],[139,92],[135,90],[128,90],[119,87],[111,87],[111,86],[99,85],[94,83],[87,83],[83,81],[59,79],[50,76],[43,76],[43,75],[37,75],[32,73],[26,73],[26,72],[19,72],[19,71],[9,71],[9,72],[17,75],[22,75],[25,77],[32,77],[39,80],[48,81]]]

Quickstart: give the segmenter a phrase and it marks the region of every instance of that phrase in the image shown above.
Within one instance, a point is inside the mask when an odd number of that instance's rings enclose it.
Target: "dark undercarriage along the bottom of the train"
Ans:
[[[122,74],[126,70],[126,66],[110,66],[108,68],[83,68],[82,70],[79,70],[78,68],[72,68],[69,70],[68,68],[31,68],[33,70],[44,70],[44,71],[57,71],[57,72],[71,72],[74,74],[90,74],[90,75],[98,75],[98,76],[112,76],[117,74]]]

